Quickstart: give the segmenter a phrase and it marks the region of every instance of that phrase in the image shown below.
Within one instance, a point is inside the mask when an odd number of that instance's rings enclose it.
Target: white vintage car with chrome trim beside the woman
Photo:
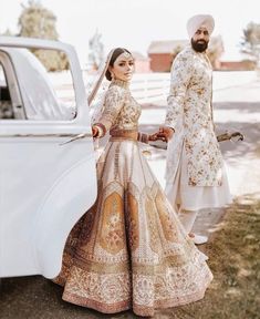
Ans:
[[[61,81],[46,72],[30,51],[39,48],[65,54],[71,73]],[[0,278],[55,277],[67,235],[97,192],[85,88],[71,45],[0,37]]]

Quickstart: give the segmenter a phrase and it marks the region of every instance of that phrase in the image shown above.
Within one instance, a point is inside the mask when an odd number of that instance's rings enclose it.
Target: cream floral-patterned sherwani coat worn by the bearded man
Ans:
[[[212,70],[209,59],[205,52],[199,53],[191,47],[187,47],[176,56],[171,68],[166,125],[173,127],[175,133],[167,151],[166,183],[168,185],[181,183],[186,184],[186,189],[191,189],[194,186],[209,186],[214,192],[223,182],[225,188],[227,186],[223,161],[214,130],[211,96]],[[220,198],[219,203],[211,203],[210,198],[209,200],[206,198],[206,203],[201,205],[198,203],[194,209],[205,208],[208,205],[208,207],[218,204],[221,206],[229,202],[228,187],[223,200],[221,195],[225,192],[219,191],[221,192],[217,194]],[[181,192],[179,193],[181,197]],[[168,196],[170,197],[170,194]],[[185,206],[185,203],[178,204]],[[190,207],[193,204],[183,208],[193,209]]]

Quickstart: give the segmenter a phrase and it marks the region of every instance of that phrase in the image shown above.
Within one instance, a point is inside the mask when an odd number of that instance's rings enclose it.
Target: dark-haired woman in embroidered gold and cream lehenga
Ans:
[[[105,313],[132,308],[153,316],[157,308],[201,299],[212,275],[138,146],[156,134],[137,131],[131,52],[113,50],[104,71],[111,85],[93,136],[111,137],[97,162],[98,195],[70,234],[56,282],[64,285],[66,301]]]

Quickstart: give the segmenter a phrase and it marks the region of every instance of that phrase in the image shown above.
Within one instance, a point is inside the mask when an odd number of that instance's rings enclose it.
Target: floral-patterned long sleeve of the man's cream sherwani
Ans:
[[[171,66],[170,91],[167,99],[168,107],[165,120],[165,125],[175,131],[183,125],[186,91],[193,74],[191,59],[183,53],[177,55]]]

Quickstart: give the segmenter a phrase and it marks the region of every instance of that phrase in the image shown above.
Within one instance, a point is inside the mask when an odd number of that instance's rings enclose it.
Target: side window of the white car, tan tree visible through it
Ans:
[[[63,52],[1,48],[0,63],[0,120],[72,121],[76,116],[73,80]]]

